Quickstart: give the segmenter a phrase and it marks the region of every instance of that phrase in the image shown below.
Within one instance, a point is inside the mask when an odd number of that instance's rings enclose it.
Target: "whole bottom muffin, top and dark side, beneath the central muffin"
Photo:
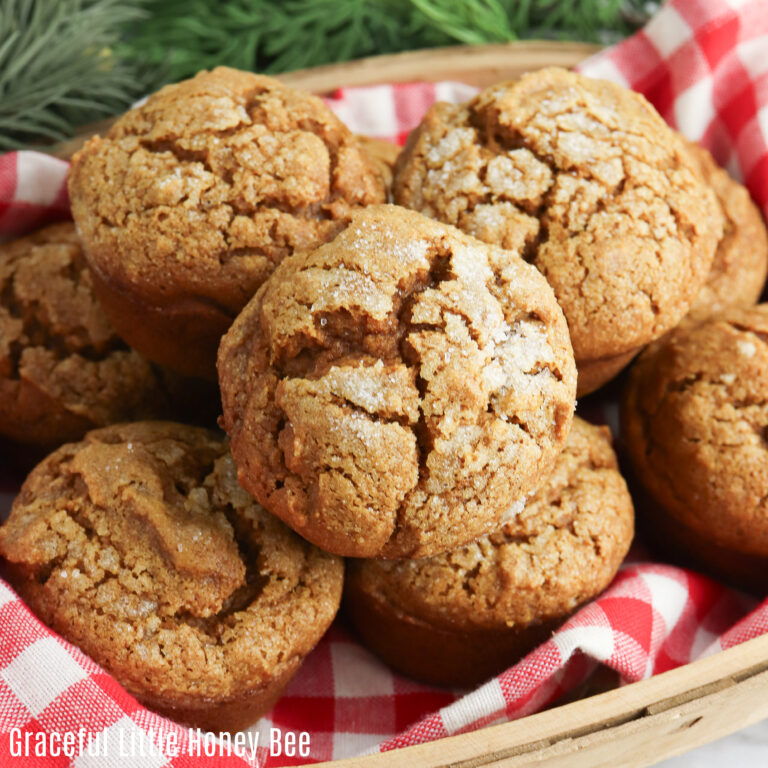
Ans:
[[[344,610],[397,671],[474,686],[608,586],[633,518],[608,428],[574,418],[549,479],[501,530],[423,560],[349,560]]]

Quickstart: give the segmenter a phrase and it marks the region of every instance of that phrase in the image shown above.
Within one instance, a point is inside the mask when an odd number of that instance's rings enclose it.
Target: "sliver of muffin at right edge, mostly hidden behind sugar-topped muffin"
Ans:
[[[768,274],[768,235],[746,188],[720,168],[706,149],[692,142],[689,149],[715,191],[724,222],[709,277],[687,315],[705,320],[729,307],[759,301]]]

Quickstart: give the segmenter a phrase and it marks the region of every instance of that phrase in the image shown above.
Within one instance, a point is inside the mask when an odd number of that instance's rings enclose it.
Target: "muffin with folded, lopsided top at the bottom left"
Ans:
[[[44,622],[150,708],[213,731],[269,711],[343,577],[239,487],[224,440],[171,422],[62,446],[24,483],[0,555]]]

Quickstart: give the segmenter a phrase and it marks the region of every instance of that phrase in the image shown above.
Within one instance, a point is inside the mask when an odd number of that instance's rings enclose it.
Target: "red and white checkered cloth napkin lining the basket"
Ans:
[[[581,70],[645,93],[744,179],[768,212],[766,51],[765,0],[671,0],[643,31]],[[435,99],[472,92],[414,83],[339,91],[328,102],[353,130],[402,141]],[[32,152],[0,156],[0,237],[66,216],[66,172],[66,163]],[[603,416],[615,412],[603,406]],[[0,465],[0,508],[7,511],[17,487]],[[470,693],[394,675],[334,625],[270,715],[227,744],[144,709],[0,581],[0,765],[265,766],[390,750],[534,712],[599,663],[635,681],[764,632],[768,601],[757,605],[701,575],[635,560],[548,642]],[[47,756],[36,757],[43,741]]]

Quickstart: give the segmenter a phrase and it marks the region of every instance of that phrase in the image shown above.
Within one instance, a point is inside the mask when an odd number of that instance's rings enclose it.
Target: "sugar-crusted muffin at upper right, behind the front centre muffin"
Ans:
[[[394,201],[538,267],[580,395],[680,321],[721,233],[683,140],[642,96],[555,68],[434,105],[398,159]]]

